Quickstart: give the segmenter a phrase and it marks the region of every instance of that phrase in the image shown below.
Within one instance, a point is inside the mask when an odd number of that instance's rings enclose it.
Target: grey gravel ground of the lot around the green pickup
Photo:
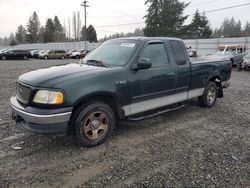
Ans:
[[[191,100],[124,122],[95,148],[15,125],[9,98],[18,76],[75,61],[0,61],[0,187],[250,187],[250,72],[233,71],[213,108]]]

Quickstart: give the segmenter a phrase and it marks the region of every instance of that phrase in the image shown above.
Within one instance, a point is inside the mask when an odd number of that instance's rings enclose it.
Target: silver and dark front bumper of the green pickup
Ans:
[[[12,118],[24,128],[38,134],[64,135],[73,108],[39,109],[23,107],[16,96],[11,97]]]

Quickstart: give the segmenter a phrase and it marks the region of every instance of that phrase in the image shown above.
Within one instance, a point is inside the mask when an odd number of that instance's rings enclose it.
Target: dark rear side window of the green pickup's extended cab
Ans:
[[[187,63],[184,47],[179,41],[170,41],[170,48],[177,65],[185,65]]]

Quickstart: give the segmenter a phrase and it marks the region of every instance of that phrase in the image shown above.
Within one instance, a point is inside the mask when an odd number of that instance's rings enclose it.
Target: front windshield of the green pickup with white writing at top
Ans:
[[[88,62],[95,60],[103,62],[106,65],[123,66],[132,56],[138,43],[136,40],[111,40],[99,46],[87,55],[83,61]]]

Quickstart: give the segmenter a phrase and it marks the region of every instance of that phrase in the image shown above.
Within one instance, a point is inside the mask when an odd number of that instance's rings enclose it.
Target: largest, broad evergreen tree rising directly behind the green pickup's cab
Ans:
[[[146,36],[180,36],[183,33],[183,23],[188,16],[183,15],[189,3],[179,0],[147,0]]]

